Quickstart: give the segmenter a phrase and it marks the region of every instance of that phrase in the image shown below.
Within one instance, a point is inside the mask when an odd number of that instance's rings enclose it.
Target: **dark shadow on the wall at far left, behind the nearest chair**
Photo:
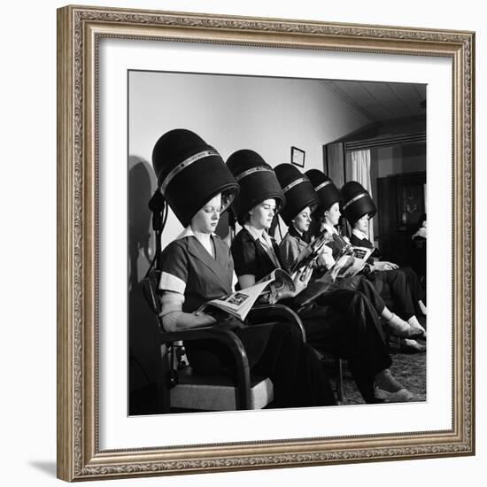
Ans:
[[[129,414],[151,414],[161,367],[158,321],[143,297],[141,281],[154,255],[149,200],[156,188],[151,164],[128,158]]]

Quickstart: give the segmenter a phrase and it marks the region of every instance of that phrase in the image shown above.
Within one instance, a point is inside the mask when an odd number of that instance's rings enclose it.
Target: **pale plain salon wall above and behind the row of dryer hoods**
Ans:
[[[290,162],[290,147],[294,145],[305,151],[307,170],[323,168],[324,143],[367,124],[359,112],[315,80],[135,72],[129,77],[129,100],[129,170],[140,165],[147,169],[152,189],[156,186],[151,171],[152,148],[160,135],[173,128],[193,130],[224,159],[239,149],[252,149],[271,166]],[[134,197],[130,205],[137,205],[137,214],[147,225],[140,201],[150,197],[145,181],[141,179],[139,190],[139,182],[131,175],[129,180]],[[181,229],[171,214],[163,246]],[[138,236],[143,234],[141,231]],[[146,243],[139,245],[139,276],[150,254]]]

